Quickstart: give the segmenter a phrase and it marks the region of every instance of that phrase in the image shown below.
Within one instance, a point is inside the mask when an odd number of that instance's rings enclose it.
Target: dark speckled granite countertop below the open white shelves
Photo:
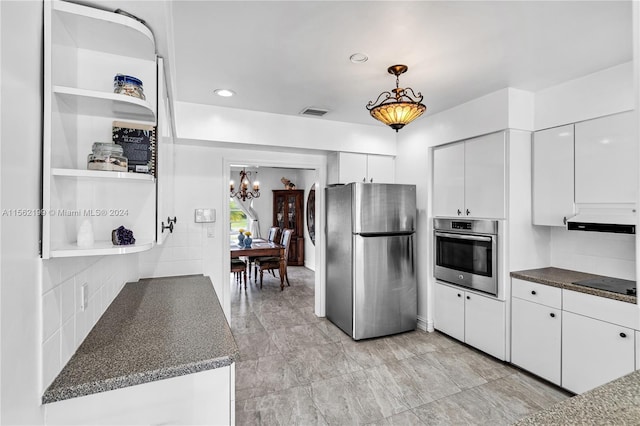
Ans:
[[[238,347],[202,275],[127,283],[42,403],[231,365]]]

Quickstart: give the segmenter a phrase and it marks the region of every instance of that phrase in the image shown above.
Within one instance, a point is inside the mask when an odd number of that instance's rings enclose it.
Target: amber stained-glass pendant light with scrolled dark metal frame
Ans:
[[[427,110],[422,102],[422,94],[416,95],[413,89],[400,86],[400,74],[407,72],[406,65],[392,65],[387,68],[389,74],[396,76],[396,88],[390,92],[382,92],[376,102],[369,101],[367,109],[373,118],[382,121],[396,132],[405,124],[411,123]],[[382,100],[381,100],[382,99]]]

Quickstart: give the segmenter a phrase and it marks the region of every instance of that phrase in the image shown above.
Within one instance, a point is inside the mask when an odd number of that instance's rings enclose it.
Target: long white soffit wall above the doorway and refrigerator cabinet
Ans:
[[[342,123],[210,105],[175,103],[176,136],[244,145],[395,155],[393,132],[374,123]]]

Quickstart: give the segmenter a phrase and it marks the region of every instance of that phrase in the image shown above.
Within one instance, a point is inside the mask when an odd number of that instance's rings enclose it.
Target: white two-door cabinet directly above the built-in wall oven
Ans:
[[[434,149],[434,215],[504,218],[505,145],[499,132]]]

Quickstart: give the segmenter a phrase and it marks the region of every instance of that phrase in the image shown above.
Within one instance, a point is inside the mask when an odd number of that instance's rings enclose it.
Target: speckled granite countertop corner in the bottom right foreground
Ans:
[[[640,370],[526,417],[525,425],[623,425],[640,421]]]

